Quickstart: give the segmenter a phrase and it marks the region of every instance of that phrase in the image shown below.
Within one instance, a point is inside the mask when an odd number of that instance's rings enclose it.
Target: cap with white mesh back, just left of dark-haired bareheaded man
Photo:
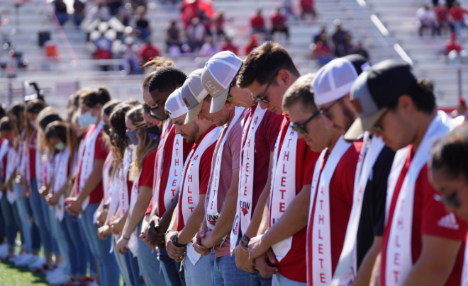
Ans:
[[[213,100],[210,113],[216,113],[228,99],[229,86],[242,67],[242,59],[233,52],[218,52],[206,62],[201,83]]]

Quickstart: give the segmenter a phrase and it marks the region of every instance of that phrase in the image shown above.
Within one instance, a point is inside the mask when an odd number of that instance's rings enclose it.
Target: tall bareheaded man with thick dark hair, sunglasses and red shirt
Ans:
[[[252,93],[254,101],[257,101],[259,104],[257,108],[267,108],[269,112],[280,115],[283,113],[282,101],[284,92],[299,76],[299,71],[296,69],[291,56],[286,50],[277,43],[266,42],[245,59],[243,67],[239,72],[238,86],[240,88],[248,88]],[[274,82],[275,84],[273,84]],[[270,199],[267,200],[266,204],[269,212],[264,212],[259,229],[259,234],[263,235],[251,237],[248,250],[250,262],[260,271],[262,277],[274,275],[273,279],[278,282],[278,285],[289,285],[291,283],[295,283],[294,285],[305,285],[306,253],[304,249],[306,247],[306,214],[308,213],[308,201],[310,200],[308,192],[311,189],[313,166],[318,154],[308,149],[303,139],[286,138],[286,135],[288,137],[291,136],[289,123],[289,116],[286,115],[282,122],[282,132],[277,137],[277,147],[275,147],[278,150],[278,157],[274,158],[273,156],[273,158],[275,160],[284,160],[284,156],[279,156],[279,154],[280,152],[289,150],[289,144],[286,144],[286,142],[294,142],[296,144],[296,156],[294,157],[294,161],[289,163],[295,166],[295,172],[294,174],[291,173],[291,176],[289,176],[291,180],[288,181],[291,185],[294,185],[291,188],[293,192],[289,196],[291,200],[282,202],[284,203],[284,209],[281,210],[284,213],[281,219],[273,221],[272,215],[274,214],[270,212],[276,210],[277,205],[272,208],[272,203],[278,202],[275,200],[272,202],[271,198],[274,196],[274,198],[281,199],[282,196],[279,188],[272,186],[270,189]],[[284,161],[284,163],[286,162]],[[272,176],[277,173],[276,170],[281,172],[273,164]],[[281,177],[279,180],[281,180]],[[293,220],[293,224],[284,224],[282,222],[286,213],[296,214],[299,217],[302,216],[305,222],[301,223],[301,219],[296,217],[298,223]],[[289,231],[290,229],[297,230]],[[289,247],[277,249],[275,252],[270,248],[276,242],[283,241],[284,239],[287,239],[286,244]],[[273,263],[274,266],[270,263]]]

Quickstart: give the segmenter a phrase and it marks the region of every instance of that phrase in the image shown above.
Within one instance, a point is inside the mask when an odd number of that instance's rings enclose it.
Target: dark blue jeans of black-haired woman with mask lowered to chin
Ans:
[[[66,254],[70,265],[70,275],[86,275],[88,264],[87,247],[84,244],[83,233],[79,226],[78,218],[72,217],[65,212],[62,222],[58,222],[67,241],[68,253]]]

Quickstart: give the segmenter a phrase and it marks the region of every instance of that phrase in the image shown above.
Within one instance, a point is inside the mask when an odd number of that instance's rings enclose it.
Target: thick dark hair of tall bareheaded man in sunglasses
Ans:
[[[301,76],[291,56],[277,42],[265,42],[250,52],[240,68],[238,86],[247,88],[254,81],[267,84],[279,70],[286,69],[294,76]],[[272,84],[277,84],[274,80]]]

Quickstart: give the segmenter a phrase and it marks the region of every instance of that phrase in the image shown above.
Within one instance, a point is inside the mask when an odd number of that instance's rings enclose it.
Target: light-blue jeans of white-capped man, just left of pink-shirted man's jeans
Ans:
[[[213,285],[213,252],[207,256],[201,256],[199,261],[196,261],[195,265],[185,256],[182,264],[184,265],[186,286]]]

